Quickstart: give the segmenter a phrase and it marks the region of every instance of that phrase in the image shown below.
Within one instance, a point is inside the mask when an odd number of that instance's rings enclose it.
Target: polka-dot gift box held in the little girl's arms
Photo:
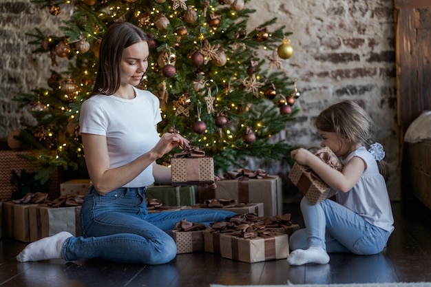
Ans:
[[[343,169],[340,160],[328,147],[319,149],[315,155],[333,169],[337,169],[338,171]],[[322,202],[322,200],[326,200],[326,198],[330,198],[336,193],[336,191],[331,189],[312,169],[297,164],[297,162],[293,164],[288,178],[311,204]]]

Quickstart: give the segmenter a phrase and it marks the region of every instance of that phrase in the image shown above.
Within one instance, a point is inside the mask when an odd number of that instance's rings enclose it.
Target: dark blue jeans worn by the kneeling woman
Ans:
[[[209,224],[235,215],[208,209],[148,214],[145,191],[145,187],[120,188],[99,195],[90,187],[81,207],[81,237],[65,241],[63,258],[164,264],[176,256],[176,243],[166,233],[176,222],[186,219]]]

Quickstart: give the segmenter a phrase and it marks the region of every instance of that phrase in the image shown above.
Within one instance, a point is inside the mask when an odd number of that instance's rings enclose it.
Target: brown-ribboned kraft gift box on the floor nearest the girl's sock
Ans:
[[[220,234],[220,254],[224,258],[249,263],[284,259],[289,255],[288,235],[244,239]]]

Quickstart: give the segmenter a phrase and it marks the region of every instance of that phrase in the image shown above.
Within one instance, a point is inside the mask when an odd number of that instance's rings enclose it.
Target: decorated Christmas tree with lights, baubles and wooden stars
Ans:
[[[21,95],[37,124],[20,138],[36,148],[34,160],[44,180],[56,169],[85,176],[78,118],[92,92],[98,45],[107,27],[128,21],[149,36],[147,75],[138,86],[160,99],[160,134],[178,132],[214,158],[223,173],[247,157],[286,158],[291,145],[273,136],[293,120],[299,96],[295,81],[282,71],[293,54],[284,26],[271,19],[247,31],[254,10],[246,0],[35,0],[54,16],[73,6],[63,35],[30,34],[34,53],[50,53],[50,89]],[[263,55],[263,56],[262,56]],[[55,71],[57,57],[70,60]],[[161,164],[169,164],[171,151]]]

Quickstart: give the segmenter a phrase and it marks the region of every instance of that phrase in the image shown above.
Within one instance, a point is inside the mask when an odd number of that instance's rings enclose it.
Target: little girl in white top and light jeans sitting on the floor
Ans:
[[[316,127],[320,145],[329,147],[344,164],[337,171],[306,149],[291,152],[298,164],[313,169],[337,193],[337,201],[312,205],[304,197],[301,211],[306,228],[290,239],[291,265],[326,264],[328,253],[377,254],[394,230],[392,209],[386,188],[384,151],[372,144],[374,124],[370,116],[351,100],[322,111]],[[370,145],[370,146],[369,146]]]

